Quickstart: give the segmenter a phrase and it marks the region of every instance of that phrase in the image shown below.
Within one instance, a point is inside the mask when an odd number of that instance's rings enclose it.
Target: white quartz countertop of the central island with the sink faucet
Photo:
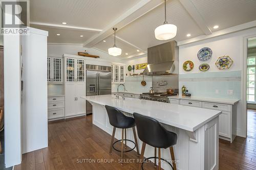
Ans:
[[[127,113],[140,113],[157,119],[160,123],[194,132],[222,112],[182,106],[176,104],[126,98],[116,99],[114,95],[82,96],[90,102],[109,105]]]

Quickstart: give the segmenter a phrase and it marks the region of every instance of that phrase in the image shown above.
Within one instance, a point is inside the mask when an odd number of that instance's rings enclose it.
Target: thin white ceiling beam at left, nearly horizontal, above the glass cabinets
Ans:
[[[66,25],[57,25],[52,23],[43,23],[43,22],[30,22],[30,25],[37,25],[46,28],[57,28],[57,29],[67,29],[67,30],[80,30],[80,31],[88,31],[88,32],[102,32],[99,29],[86,28],[86,27],[76,27],[76,26],[66,26]]]

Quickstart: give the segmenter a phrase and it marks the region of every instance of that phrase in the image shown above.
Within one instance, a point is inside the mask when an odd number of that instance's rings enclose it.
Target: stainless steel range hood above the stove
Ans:
[[[179,74],[179,48],[176,41],[166,42],[147,48],[147,67],[143,75]]]

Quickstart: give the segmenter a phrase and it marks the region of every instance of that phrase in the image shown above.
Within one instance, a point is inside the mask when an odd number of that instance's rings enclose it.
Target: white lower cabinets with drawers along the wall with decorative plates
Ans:
[[[169,99],[171,104],[180,104],[184,106],[199,107],[212,110],[220,110],[222,114],[219,117],[219,135],[220,138],[230,142],[236,137],[237,131],[237,105],[223,104],[214,102],[204,102],[199,100]]]

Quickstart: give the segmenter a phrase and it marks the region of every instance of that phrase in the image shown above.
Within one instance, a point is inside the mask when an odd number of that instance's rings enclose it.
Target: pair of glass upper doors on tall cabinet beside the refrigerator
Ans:
[[[83,59],[65,58],[65,81],[85,82],[85,61]]]

